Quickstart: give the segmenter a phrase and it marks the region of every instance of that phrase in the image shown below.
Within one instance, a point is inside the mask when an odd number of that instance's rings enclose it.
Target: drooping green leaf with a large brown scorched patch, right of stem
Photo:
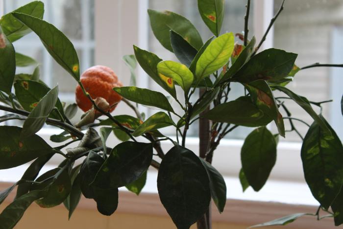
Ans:
[[[257,108],[262,112],[270,116],[282,137],[285,137],[285,125],[280,114],[273,93],[265,80],[256,80],[247,84],[244,84],[245,88],[251,95],[252,102],[257,105]]]

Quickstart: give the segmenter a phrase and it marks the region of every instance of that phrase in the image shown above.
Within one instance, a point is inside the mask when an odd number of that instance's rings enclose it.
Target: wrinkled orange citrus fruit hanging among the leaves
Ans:
[[[80,81],[92,99],[101,97],[110,104],[110,112],[116,108],[115,104],[122,100],[122,97],[112,88],[122,87],[123,84],[109,67],[93,66],[82,73]],[[75,99],[78,107],[84,112],[92,108],[92,102],[83,94],[80,85],[76,86]]]

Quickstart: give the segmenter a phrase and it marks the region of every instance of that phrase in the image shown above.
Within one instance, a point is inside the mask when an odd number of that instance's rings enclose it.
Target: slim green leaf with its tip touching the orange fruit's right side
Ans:
[[[113,90],[132,102],[174,112],[168,99],[161,92],[139,87],[114,87]]]

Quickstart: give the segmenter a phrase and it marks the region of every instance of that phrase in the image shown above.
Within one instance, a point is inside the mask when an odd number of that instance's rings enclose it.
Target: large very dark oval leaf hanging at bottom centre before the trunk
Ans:
[[[189,229],[206,212],[211,200],[206,169],[195,153],[181,146],[174,146],[164,156],[157,189],[178,229]]]

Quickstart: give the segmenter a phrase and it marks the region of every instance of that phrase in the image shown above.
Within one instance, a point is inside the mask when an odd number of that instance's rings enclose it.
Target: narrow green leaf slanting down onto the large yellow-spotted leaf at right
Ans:
[[[286,95],[288,95],[294,102],[296,102],[301,108],[303,108],[317,123],[318,125],[324,130],[329,131],[329,128],[325,125],[324,121],[319,117],[319,115],[316,113],[316,111],[313,110],[311,105],[307,100],[305,100],[304,97],[298,96],[293,91],[286,87],[282,86],[272,86],[272,88],[275,88]]]

